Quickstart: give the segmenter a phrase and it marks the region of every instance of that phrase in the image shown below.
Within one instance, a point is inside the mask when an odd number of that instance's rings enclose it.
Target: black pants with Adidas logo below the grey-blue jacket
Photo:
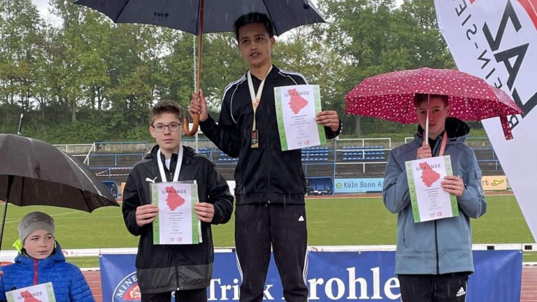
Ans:
[[[464,302],[468,273],[398,275],[403,302]]]

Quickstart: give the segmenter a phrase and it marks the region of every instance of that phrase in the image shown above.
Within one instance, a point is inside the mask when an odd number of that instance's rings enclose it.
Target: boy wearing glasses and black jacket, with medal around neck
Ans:
[[[213,237],[210,224],[229,221],[233,196],[212,161],[182,146],[182,108],[160,101],[150,111],[149,131],[157,145],[131,171],[123,192],[123,219],[129,232],[140,236],[136,274],[141,301],[207,301],[213,272]],[[159,163],[160,161],[160,163]],[[166,179],[163,179],[166,178]],[[150,182],[192,181],[198,184],[202,243],[154,245],[152,222],[158,209],[151,204]]]

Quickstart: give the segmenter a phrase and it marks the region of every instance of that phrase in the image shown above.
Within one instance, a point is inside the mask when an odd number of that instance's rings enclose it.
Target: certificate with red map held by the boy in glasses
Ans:
[[[151,202],[159,208],[153,221],[153,244],[198,244],[199,220],[194,212],[198,202],[198,185],[184,182],[150,184]]]

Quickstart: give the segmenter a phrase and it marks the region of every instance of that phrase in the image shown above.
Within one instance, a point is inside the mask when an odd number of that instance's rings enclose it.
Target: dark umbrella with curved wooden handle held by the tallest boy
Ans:
[[[116,23],[154,24],[187,31],[199,36],[196,91],[201,79],[201,35],[233,31],[238,17],[265,13],[279,36],[305,24],[324,22],[309,0],[75,0],[74,3],[99,10]],[[199,116],[194,115],[192,130],[185,117],[185,133],[196,134]]]

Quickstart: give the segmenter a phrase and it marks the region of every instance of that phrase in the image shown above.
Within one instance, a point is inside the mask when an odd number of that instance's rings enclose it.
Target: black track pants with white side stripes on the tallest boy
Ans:
[[[241,302],[263,299],[271,246],[287,302],[308,301],[308,232],[303,205],[237,206],[235,245],[241,271]]]

